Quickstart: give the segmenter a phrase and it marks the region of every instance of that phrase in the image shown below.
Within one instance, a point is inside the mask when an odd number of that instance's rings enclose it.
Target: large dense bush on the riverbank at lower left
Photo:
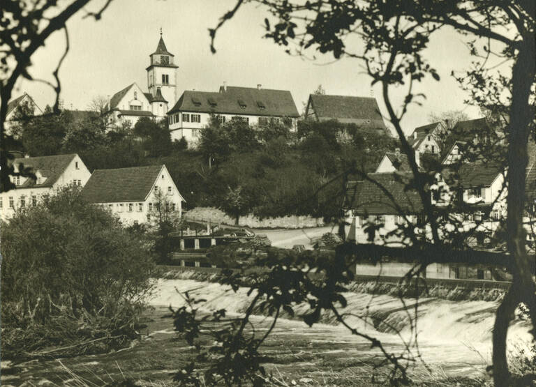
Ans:
[[[154,286],[150,245],[79,190],[17,211],[1,240],[2,356],[96,338],[105,347],[135,335]]]

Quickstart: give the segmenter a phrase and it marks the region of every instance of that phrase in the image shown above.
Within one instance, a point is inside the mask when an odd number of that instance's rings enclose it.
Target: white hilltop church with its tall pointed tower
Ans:
[[[162,32],[156,51],[149,55],[147,70],[148,93],[136,83],[126,86],[107,101],[109,126],[129,122],[135,125],[140,117],[163,119],[175,103],[176,75],[179,66],[174,64],[174,55],[165,47]]]

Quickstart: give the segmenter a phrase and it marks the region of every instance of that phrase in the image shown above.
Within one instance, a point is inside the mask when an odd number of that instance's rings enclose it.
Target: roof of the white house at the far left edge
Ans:
[[[27,179],[24,184],[17,186],[17,188],[48,188],[52,187],[54,183],[59,179],[61,174],[64,173],[66,167],[75,158],[76,153],[68,155],[52,155],[52,156],[40,156],[31,158],[15,158],[13,160],[14,165],[24,165],[24,168],[31,167],[32,172],[40,174],[47,179],[41,184],[36,184],[36,181]]]

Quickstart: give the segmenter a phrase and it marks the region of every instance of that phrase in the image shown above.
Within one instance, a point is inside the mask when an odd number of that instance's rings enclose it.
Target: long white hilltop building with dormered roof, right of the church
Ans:
[[[195,146],[211,116],[218,116],[221,123],[234,119],[250,126],[282,122],[295,130],[299,114],[290,91],[262,89],[260,84],[256,88],[224,84],[218,92],[186,90],[168,112],[172,141],[184,138]]]

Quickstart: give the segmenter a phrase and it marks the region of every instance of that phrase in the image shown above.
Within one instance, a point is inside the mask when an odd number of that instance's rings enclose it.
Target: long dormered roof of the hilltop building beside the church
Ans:
[[[184,91],[168,114],[174,112],[299,116],[290,91],[236,86],[228,86],[226,90],[222,87],[218,93]]]

